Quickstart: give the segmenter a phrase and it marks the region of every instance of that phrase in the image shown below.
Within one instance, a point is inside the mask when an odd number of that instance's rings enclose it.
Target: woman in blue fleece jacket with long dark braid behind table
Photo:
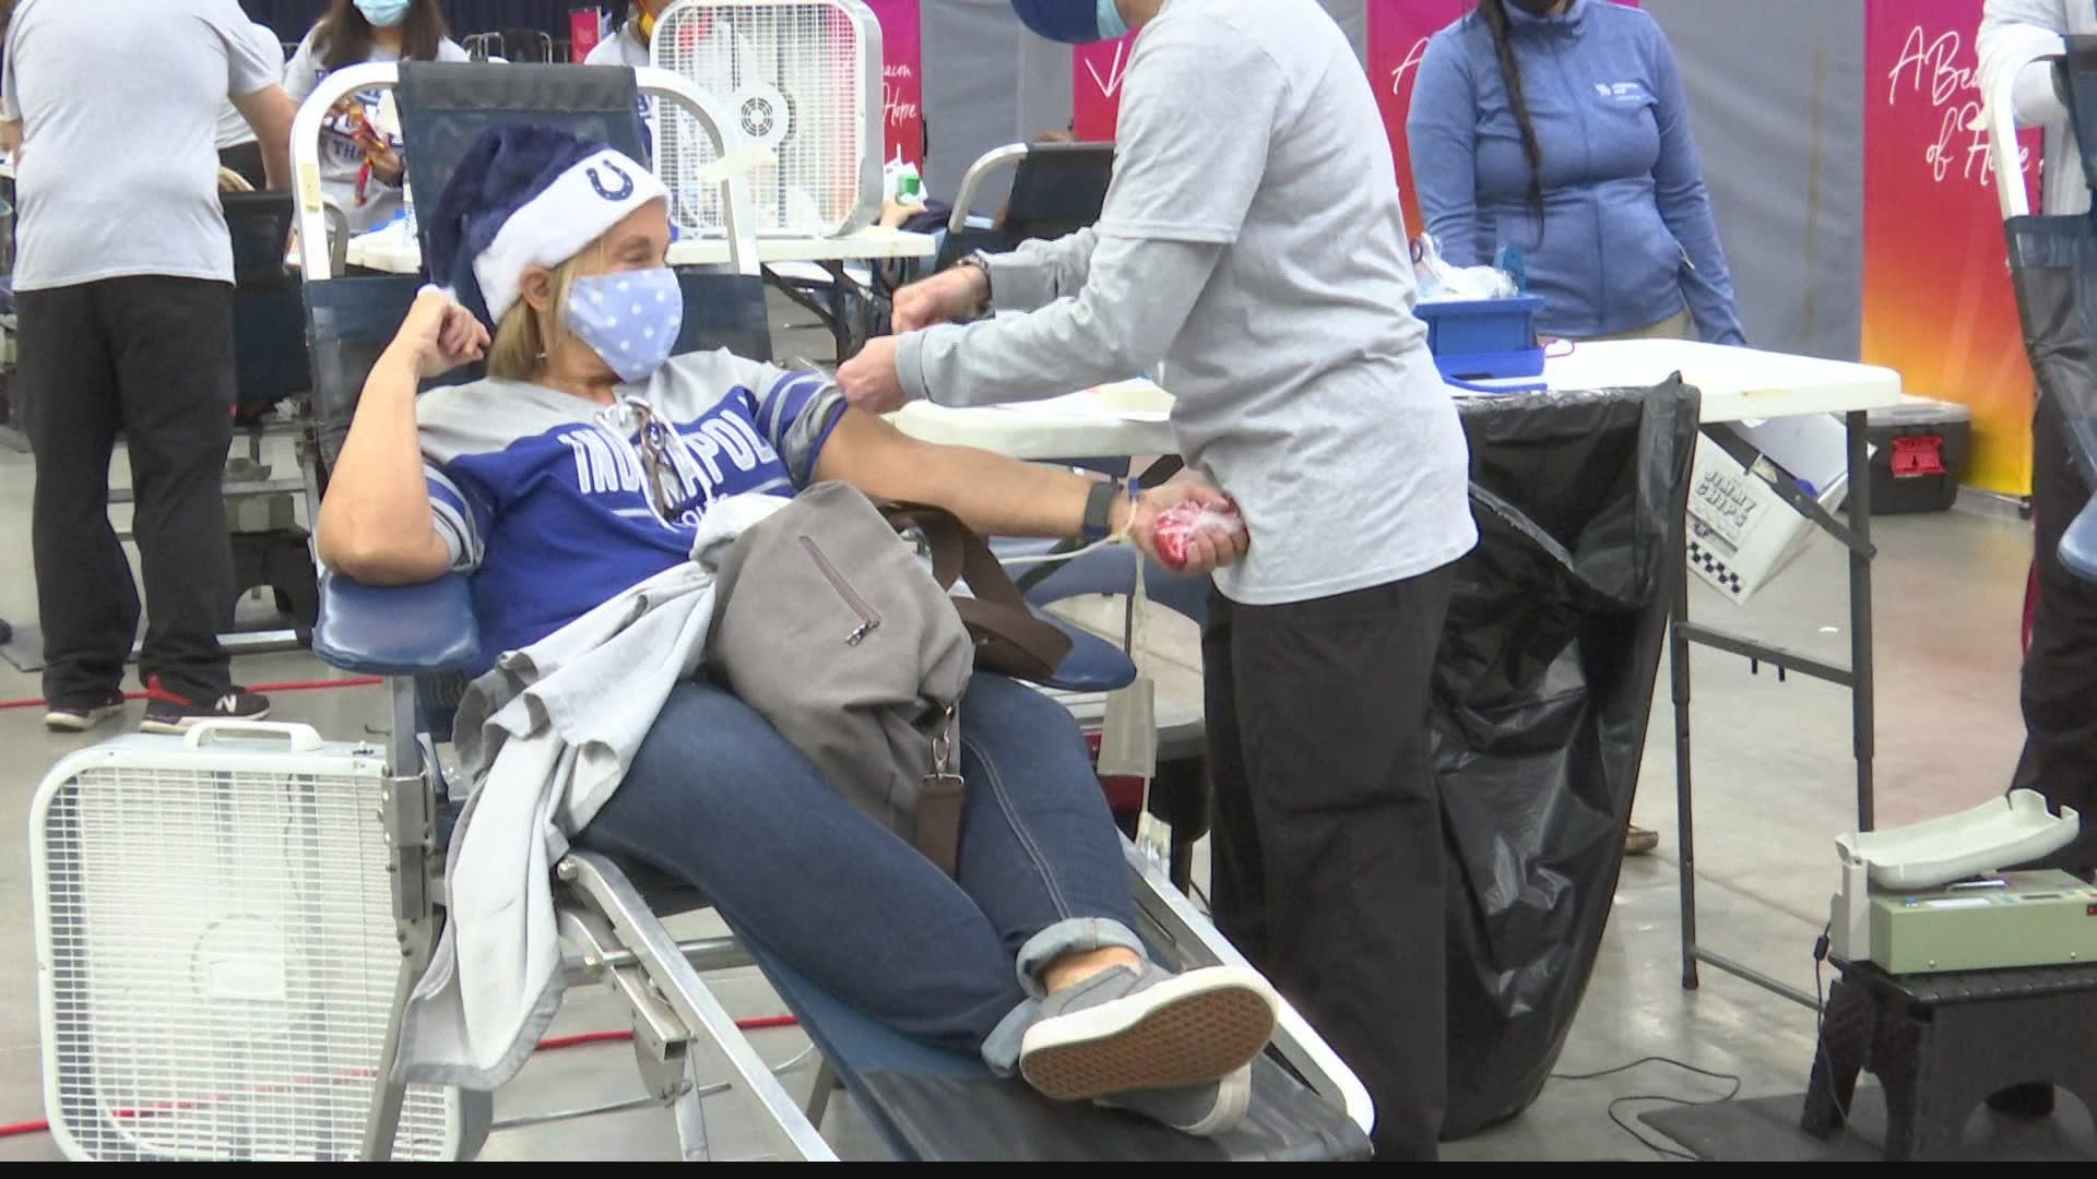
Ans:
[[[1743,344],[1673,50],[1608,0],[1478,0],[1428,42],[1407,120],[1455,266],[1516,248],[1548,336]]]

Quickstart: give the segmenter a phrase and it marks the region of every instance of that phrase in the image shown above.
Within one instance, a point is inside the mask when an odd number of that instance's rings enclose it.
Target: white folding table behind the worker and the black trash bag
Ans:
[[[1858,831],[1873,827],[1873,638],[1871,638],[1871,447],[1868,413],[1898,405],[1900,373],[1873,365],[1728,348],[1682,340],[1581,344],[1552,359],[1543,382],[1554,390],[1655,386],[1682,373],[1703,392],[1705,424],[1839,413],[1850,443],[1847,527],[1820,522],[1850,548],[1850,665],[1837,667],[1690,621],[1688,569],[1678,562],[1669,627],[1669,678],[1676,709],[1676,814],[1682,852],[1682,986],[1696,988],[1699,963],[1806,1005],[1818,1001],[1696,942],[1696,843],[1690,766],[1690,646],[1703,644],[1850,688],[1856,755]],[[1550,392],[1508,394],[1550,396]],[[1055,401],[944,409],[914,403],[893,415],[898,428],[929,443],[967,445],[1023,459],[1130,457],[1176,453],[1170,394],[1147,382],[1078,392]]]

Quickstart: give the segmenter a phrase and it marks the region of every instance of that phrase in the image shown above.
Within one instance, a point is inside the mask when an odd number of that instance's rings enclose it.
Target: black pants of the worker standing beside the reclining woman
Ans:
[[[1210,600],[1216,923],[1361,1076],[1382,1160],[1447,1106],[1428,686],[1453,573],[1288,606]]]

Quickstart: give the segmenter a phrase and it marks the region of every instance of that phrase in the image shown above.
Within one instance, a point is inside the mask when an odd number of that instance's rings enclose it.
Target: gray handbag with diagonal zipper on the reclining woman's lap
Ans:
[[[715,594],[709,673],[830,789],[952,875],[956,709],[975,650],[895,524],[860,491],[820,483],[736,539]]]

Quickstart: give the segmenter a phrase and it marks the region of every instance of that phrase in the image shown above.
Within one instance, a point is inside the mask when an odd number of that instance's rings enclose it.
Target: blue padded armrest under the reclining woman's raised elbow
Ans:
[[[312,652],[365,676],[463,671],[480,659],[480,623],[466,575],[421,585],[359,585],[321,573],[321,617]]]

